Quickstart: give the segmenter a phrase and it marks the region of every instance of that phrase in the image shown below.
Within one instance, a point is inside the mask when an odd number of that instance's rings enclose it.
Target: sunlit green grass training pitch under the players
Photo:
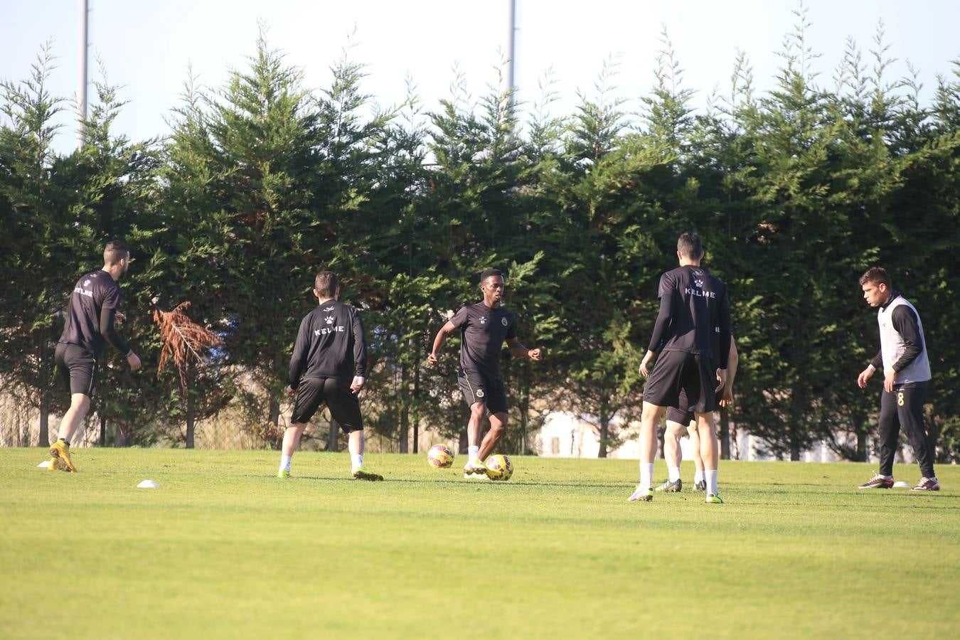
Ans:
[[[724,462],[726,505],[628,503],[634,461],[0,450],[0,637],[956,637],[960,469]],[[899,465],[914,482],[915,466]],[[684,481],[692,475],[684,462]],[[665,476],[658,462],[656,478]],[[144,479],[158,489],[135,488]]]

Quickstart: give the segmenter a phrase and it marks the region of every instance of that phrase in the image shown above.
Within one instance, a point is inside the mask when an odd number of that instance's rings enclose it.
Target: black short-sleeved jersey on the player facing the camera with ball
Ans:
[[[450,322],[460,329],[460,366],[499,378],[503,341],[516,338],[514,314],[477,302],[460,307]]]

